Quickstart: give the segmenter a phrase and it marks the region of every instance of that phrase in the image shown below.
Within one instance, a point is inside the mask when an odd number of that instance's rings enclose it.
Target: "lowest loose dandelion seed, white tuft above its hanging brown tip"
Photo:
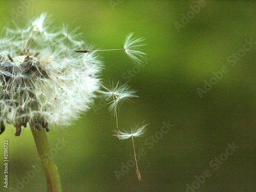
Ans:
[[[133,127],[133,129],[130,132],[127,132],[127,131],[119,131],[118,132],[119,139],[129,139],[130,137],[132,137],[132,140],[133,140],[133,150],[134,150],[134,158],[135,158],[135,163],[136,163],[136,173],[137,173],[139,181],[141,180],[141,175],[140,175],[140,170],[139,170],[138,164],[137,164],[135,145],[134,145],[133,137],[140,137],[140,136],[142,136],[144,134],[144,132],[145,132],[145,129],[146,129],[147,125],[148,124],[137,125],[137,126]],[[115,133],[117,134],[117,131],[115,131]],[[116,136],[116,134],[114,136]]]

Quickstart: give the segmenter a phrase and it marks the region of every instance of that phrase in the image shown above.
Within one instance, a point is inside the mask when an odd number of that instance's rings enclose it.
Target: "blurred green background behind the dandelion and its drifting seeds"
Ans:
[[[139,95],[132,104],[122,105],[119,125],[129,129],[149,123],[145,136],[135,139],[136,151],[146,152],[138,162],[142,180],[135,167],[119,180],[115,176],[122,163],[132,159],[132,140],[117,142],[112,136],[115,118],[96,100],[94,110],[72,126],[48,133],[52,147],[58,139],[68,142],[55,151],[63,191],[193,191],[188,185],[195,191],[256,190],[256,44],[241,51],[245,39],[256,41],[256,2],[205,4],[193,17],[190,6],[199,1],[0,1],[0,29],[8,18],[18,15],[22,21],[47,12],[54,25],[81,27],[83,39],[96,48],[122,48],[130,32],[146,38],[143,67],[136,67],[122,52],[100,54],[105,62],[102,79],[125,83],[130,76],[129,84]],[[175,22],[182,24],[182,14],[187,13],[193,18],[178,31]],[[228,61],[232,54],[240,55],[235,66]],[[201,98],[197,88],[203,90],[205,80],[212,80],[213,72],[223,66],[228,72]],[[174,126],[161,135],[163,121]],[[15,137],[14,128],[7,128],[0,136],[0,154],[8,139],[9,187],[16,188],[18,180],[40,163],[30,129]],[[154,145],[146,144],[149,139]],[[228,143],[239,148],[225,159]],[[225,161],[214,170],[209,163],[220,156]],[[211,176],[198,186],[195,176],[206,169]],[[3,163],[0,176],[1,191],[12,191],[3,187]],[[22,187],[19,191],[46,191],[44,173],[36,173]]]

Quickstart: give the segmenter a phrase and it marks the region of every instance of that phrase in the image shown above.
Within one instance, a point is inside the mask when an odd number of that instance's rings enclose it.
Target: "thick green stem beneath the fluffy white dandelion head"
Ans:
[[[36,130],[32,124],[30,124],[30,129],[35,140],[42,168],[44,169],[46,175],[48,192],[61,192],[62,190],[58,168],[51,154],[51,148],[48,142],[46,131],[44,128],[41,128],[41,130]]]

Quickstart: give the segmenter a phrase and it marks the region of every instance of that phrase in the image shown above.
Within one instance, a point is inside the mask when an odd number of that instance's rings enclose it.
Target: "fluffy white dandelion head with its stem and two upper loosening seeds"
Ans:
[[[110,110],[116,116],[118,105],[135,97],[126,85],[107,88],[100,82],[103,63],[96,51],[75,51],[86,47],[78,28],[54,28],[45,13],[25,28],[14,26],[6,27],[4,38],[0,37],[0,134],[6,123],[14,125],[15,136],[29,124],[40,158],[51,154],[46,136],[49,127],[70,125],[90,109],[97,93],[113,98]],[[130,57],[144,54],[131,50],[140,47],[134,46],[140,41],[127,44]],[[48,191],[61,191],[55,161],[48,159],[47,165],[42,164]]]

